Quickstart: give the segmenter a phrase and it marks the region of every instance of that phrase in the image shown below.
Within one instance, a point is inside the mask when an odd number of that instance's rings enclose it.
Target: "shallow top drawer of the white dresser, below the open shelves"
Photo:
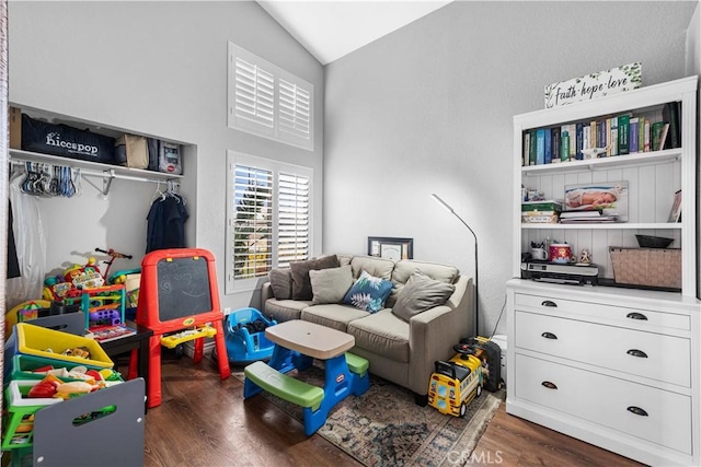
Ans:
[[[563,315],[576,314],[591,319],[604,318],[619,322],[627,327],[655,328],[667,327],[671,329],[691,329],[691,318],[688,315],[655,312],[652,310],[605,305],[596,302],[578,302],[558,296],[529,295],[516,293],[514,301],[517,310],[526,307],[529,311],[547,310],[560,312]]]

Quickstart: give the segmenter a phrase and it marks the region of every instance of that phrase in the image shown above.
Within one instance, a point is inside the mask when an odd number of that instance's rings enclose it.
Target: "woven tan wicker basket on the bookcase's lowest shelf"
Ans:
[[[617,283],[681,289],[680,248],[609,247]]]

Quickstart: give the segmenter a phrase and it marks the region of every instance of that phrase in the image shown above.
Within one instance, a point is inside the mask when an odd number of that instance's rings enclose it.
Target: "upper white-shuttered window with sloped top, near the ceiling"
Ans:
[[[312,151],[314,86],[229,43],[229,127]]]

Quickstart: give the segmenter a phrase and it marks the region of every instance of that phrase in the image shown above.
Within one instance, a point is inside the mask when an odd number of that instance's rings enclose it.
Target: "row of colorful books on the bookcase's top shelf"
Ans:
[[[610,157],[681,147],[680,103],[662,113],[608,118],[524,131],[522,165]]]

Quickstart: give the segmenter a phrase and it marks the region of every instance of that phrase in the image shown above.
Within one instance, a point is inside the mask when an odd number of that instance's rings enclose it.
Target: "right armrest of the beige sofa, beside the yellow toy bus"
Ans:
[[[452,346],[474,335],[472,297],[472,279],[460,277],[448,304],[435,306],[411,318],[409,387],[414,393],[427,394],[434,362],[450,359],[456,353]]]

